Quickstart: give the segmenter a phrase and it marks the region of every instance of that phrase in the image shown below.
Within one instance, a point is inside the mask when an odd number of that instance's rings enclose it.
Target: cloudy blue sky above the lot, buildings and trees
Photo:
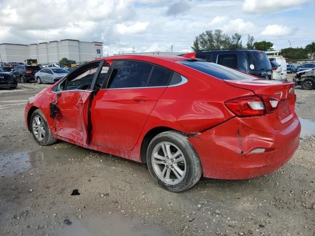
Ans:
[[[315,41],[315,0],[0,0],[0,43],[100,41],[104,54],[190,51],[207,29],[275,49]]]

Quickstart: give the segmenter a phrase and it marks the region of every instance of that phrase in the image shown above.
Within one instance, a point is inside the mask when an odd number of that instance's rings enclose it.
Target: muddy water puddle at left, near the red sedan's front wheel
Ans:
[[[68,163],[68,159],[80,159],[86,153],[80,148],[40,149],[31,152],[0,154],[0,176],[12,176],[40,165]]]

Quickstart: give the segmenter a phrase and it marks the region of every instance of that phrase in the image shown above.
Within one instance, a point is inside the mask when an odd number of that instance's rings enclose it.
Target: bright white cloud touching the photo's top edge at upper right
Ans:
[[[301,5],[308,0],[244,0],[242,9],[249,13],[268,13]]]

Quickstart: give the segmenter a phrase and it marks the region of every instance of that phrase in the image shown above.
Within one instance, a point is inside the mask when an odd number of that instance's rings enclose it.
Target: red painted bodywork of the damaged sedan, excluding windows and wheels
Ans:
[[[100,89],[91,103],[92,131],[88,128],[91,92],[67,91],[58,98],[60,109],[50,118],[49,103],[57,100],[51,86],[27,104],[40,109],[54,136],[85,148],[141,161],[145,135],[156,127],[185,133],[201,160],[203,176],[224,179],[252,178],[280,168],[299,145],[300,123],[294,112],[293,83],[252,80],[223,81],[193,70],[177,60],[184,57],[116,56],[155,63],[185,76],[188,82],[167,88]],[[276,97],[278,107],[260,116],[237,117],[224,104],[244,96]],[[268,108],[270,109],[270,108]],[[256,114],[257,115],[257,114]],[[258,114],[259,115],[259,114]],[[29,128],[29,127],[28,127]],[[264,153],[251,153],[266,148]]]

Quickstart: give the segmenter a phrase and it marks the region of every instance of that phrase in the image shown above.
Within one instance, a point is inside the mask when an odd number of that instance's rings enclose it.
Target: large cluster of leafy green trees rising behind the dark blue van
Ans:
[[[234,35],[227,35],[221,29],[206,30],[195,37],[193,51],[197,50],[213,50],[222,48],[236,48],[243,49],[242,35],[235,33]]]

